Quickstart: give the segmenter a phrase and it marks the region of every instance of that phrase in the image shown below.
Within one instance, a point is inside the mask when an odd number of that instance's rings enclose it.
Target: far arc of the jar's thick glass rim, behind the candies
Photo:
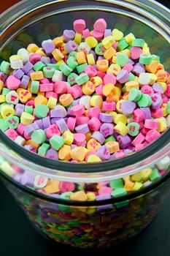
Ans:
[[[23,29],[23,22],[26,22],[26,16],[32,19],[32,23],[34,23],[39,20],[37,14],[41,16],[41,19],[46,18],[48,15],[53,15],[53,12],[49,10],[52,6],[55,6],[55,4],[58,6],[58,10],[55,10],[56,13],[71,12],[74,10],[82,11],[87,10],[89,7],[96,11],[101,9],[111,11],[114,5],[115,13],[122,15],[122,12],[117,10],[117,7],[121,7],[123,15],[135,18],[141,22],[147,22],[151,28],[155,29],[155,31],[159,31],[161,35],[170,42],[170,10],[155,0],[82,0],[81,2],[79,0],[29,0],[29,4],[27,0],[23,0],[0,14],[0,36],[2,41],[9,42],[11,35],[10,31],[8,33],[8,29],[11,27],[15,29],[14,25],[17,23],[19,23],[19,25],[17,24],[18,28]],[[34,15],[31,15],[32,12],[34,12]],[[31,25],[30,20],[29,24]],[[7,33],[6,38],[3,37],[4,32]],[[17,33],[18,31],[16,31],[15,34]]]

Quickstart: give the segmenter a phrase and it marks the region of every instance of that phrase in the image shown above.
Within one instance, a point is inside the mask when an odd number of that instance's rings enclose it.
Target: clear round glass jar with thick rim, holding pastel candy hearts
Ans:
[[[143,38],[169,71],[169,10],[144,0],[21,1],[0,16],[1,59],[61,35],[79,18],[90,29],[104,18],[109,28]],[[34,227],[62,244],[120,244],[149,225],[169,192],[169,129],[135,154],[93,163],[41,157],[1,130],[0,142],[2,181]]]

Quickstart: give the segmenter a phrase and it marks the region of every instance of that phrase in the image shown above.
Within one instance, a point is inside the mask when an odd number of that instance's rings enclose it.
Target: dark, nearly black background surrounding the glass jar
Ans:
[[[0,12],[17,0],[1,1]],[[170,1],[160,1],[170,7]],[[125,256],[170,255],[170,193],[158,215],[147,229],[131,241],[109,249],[77,249],[58,244],[54,246],[39,235],[28,222],[23,211],[0,181],[0,255],[55,256],[97,254],[99,252]]]

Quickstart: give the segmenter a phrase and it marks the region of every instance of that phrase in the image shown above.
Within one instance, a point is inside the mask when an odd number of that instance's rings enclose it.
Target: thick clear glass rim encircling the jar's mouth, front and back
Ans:
[[[58,0],[58,1],[20,1],[18,4],[15,4],[13,7],[9,8],[6,12],[2,13],[0,15],[0,32],[1,34],[4,33],[10,26],[12,26],[15,23],[15,20],[20,19],[22,16],[28,14],[32,10],[38,10],[39,6],[45,7],[48,4],[54,4],[54,3],[60,3],[60,2],[67,2],[68,4],[71,3],[75,4],[78,1],[77,0]],[[80,3],[80,1],[79,1]],[[141,12],[142,15],[144,15],[145,18],[150,18],[152,23],[155,23],[157,20],[157,25],[155,25],[155,28],[158,29],[158,25],[161,26],[161,32],[163,35],[165,35],[166,39],[169,39],[169,26],[168,20],[169,20],[169,9],[166,7],[163,7],[162,4],[159,4],[156,1],[150,1],[150,4],[148,5],[148,1],[142,0],[142,1],[133,1],[133,0],[127,0],[127,1],[114,1],[114,0],[84,0],[81,1],[81,5],[85,6],[85,4],[93,4],[98,6],[96,7],[96,10],[99,10],[100,6],[103,7],[104,4],[108,4],[108,6],[112,6],[112,4],[119,4],[120,6],[123,6],[125,8],[128,8],[128,10],[131,10],[133,7],[136,12]],[[80,8],[80,7],[79,7]],[[141,9],[142,8],[142,9]],[[18,12],[16,12],[18,10]],[[65,10],[69,10],[68,7],[65,8]],[[159,15],[158,15],[159,14]],[[166,14],[166,15],[165,15]],[[158,17],[158,16],[159,17]],[[150,21],[150,22],[151,22]],[[153,26],[153,24],[151,24]],[[169,39],[170,42],[170,39]],[[123,157],[120,159],[112,159],[105,162],[99,162],[99,163],[81,163],[78,162],[77,164],[74,164],[72,162],[61,162],[61,161],[55,161],[52,159],[46,159],[45,157],[40,157],[39,155],[33,154],[30,151],[27,151],[25,148],[22,148],[18,146],[18,144],[14,143],[12,140],[7,138],[6,135],[4,135],[3,132],[0,131],[0,140],[4,145],[7,145],[9,147],[10,154],[12,154],[12,151],[18,154],[18,157],[23,158],[26,160],[26,162],[29,162],[31,164],[34,163],[36,167],[46,167],[47,170],[51,170],[51,175],[55,174],[55,170],[61,170],[63,173],[66,172],[72,172],[72,173],[105,173],[109,170],[114,170],[115,173],[117,170],[122,170],[121,176],[123,176],[123,169],[125,171],[124,176],[127,175],[127,173],[130,172],[130,169],[127,169],[127,165],[131,167],[139,167],[140,165],[144,166],[147,165],[150,162],[150,157],[152,157],[152,161],[156,161],[158,157],[162,157],[166,152],[169,151],[169,143],[170,143],[170,136],[169,136],[169,129],[164,132],[163,135],[161,135],[161,138],[156,140],[155,142],[151,143],[146,148],[142,149],[142,151],[136,152],[135,154],[131,154],[127,157]],[[9,154],[9,151],[5,149],[4,147],[0,148],[1,154],[4,154],[4,157]],[[10,155],[11,156],[11,155]],[[15,154],[14,154],[15,156]],[[17,157],[14,157],[15,160]],[[37,168],[36,168],[37,171]],[[117,171],[118,172],[118,171]],[[43,171],[45,174],[45,170]],[[47,173],[46,173],[47,174]],[[118,176],[117,176],[118,177]],[[92,178],[93,179],[93,178]]]

